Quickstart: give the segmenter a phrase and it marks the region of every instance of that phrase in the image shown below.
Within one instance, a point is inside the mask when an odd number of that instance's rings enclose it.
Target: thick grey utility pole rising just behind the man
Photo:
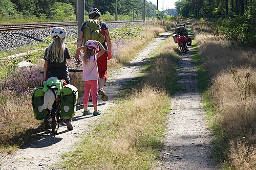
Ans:
[[[77,20],[77,37],[79,38],[80,29],[84,22],[84,0],[76,0],[76,20]]]

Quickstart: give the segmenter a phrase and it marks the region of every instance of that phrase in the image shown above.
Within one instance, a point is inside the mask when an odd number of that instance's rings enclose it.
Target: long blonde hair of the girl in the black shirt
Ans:
[[[63,40],[64,39],[65,38],[63,38]],[[63,40],[57,36],[53,37],[52,43],[48,46],[46,57],[51,62],[62,63],[65,60],[65,44]]]

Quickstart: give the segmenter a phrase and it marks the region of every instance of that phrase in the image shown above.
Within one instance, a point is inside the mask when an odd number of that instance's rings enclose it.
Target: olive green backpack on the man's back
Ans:
[[[88,40],[97,40],[100,43],[103,43],[105,36],[101,33],[101,20],[88,19],[86,20],[86,23],[87,25],[83,30],[83,43],[86,43]]]

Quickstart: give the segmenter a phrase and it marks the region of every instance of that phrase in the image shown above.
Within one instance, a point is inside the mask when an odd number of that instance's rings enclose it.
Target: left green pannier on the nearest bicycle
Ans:
[[[38,110],[38,106],[44,105],[45,92],[42,91],[42,88],[43,87],[39,87],[32,92],[32,106],[33,106],[35,119],[37,120],[45,119],[47,115],[47,109],[44,109],[41,112],[39,112]]]

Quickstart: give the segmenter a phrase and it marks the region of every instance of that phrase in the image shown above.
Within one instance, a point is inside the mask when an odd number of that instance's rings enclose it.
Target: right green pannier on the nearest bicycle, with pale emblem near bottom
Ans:
[[[61,118],[71,119],[76,113],[78,90],[75,86],[67,84],[62,87],[60,96]]]

